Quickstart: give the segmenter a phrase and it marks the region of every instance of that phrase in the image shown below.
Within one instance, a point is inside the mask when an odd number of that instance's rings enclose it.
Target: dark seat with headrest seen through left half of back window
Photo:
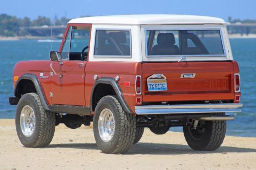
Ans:
[[[173,33],[159,33],[157,44],[153,46],[150,55],[179,55],[179,47],[175,44]]]

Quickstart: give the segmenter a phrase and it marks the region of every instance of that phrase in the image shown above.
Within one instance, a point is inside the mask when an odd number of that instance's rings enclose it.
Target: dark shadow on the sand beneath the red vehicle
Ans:
[[[46,148],[73,148],[73,149],[88,149],[99,150],[96,143],[62,143],[51,144]],[[238,147],[220,147],[216,151],[193,151],[188,145],[183,144],[166,144],[166,143],[144,143],[139,142],[131,148],[125,155],[150,154],[150,155],[182,155],[182,154],[209,154],[209,153],[251,153],[256,149],[238,148]]]

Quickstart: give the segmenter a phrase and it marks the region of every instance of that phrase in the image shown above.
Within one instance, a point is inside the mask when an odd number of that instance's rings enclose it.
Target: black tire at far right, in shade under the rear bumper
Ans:
[[[191,149],[195,151],[214,151],[221,146],[225,138],[226,121],[205,121],[204,134],[199,138],[191,135],[191,127],[183,127],[183,132]]]

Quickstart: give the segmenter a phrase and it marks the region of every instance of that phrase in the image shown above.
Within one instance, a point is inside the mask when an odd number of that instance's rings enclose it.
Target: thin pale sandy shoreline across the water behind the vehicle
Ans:
[[[228,34],[228,37],[230,39],[232,38],[256,38],[256,34]],[[41,36],[14,36],[14,37],[4,37],[0,36],[0,41],[17,41],[21,39],[51,39],[49,36],[41,37]],[[57,39],[57,38],[52,38],[52,39]],[[61,40],[61,39],[60,39]]]

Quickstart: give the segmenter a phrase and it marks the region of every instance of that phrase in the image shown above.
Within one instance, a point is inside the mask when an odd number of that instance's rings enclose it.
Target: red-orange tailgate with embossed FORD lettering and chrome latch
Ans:
[[[232,62],[143,63],[142,74],[143,102],[185,101],[191,100],[193,96],[197,96],[196,100],[201,100],[198,96],[202,96],[202,100],[213,99],[207,98],[208,94],[218,100],[217,96],[220,93],[224,95],[220,96],[219,100],[223,100],[221,99],[223,96],[229,98],[228,93],[230,98],[233,95],[231,95]],[[148,89],[147,78],[154,74],[162,74],[166,78],[167,90],[166,88],[162,88],[163,91]],[[151,84],[152,82],[154,83],[151,81]],[[154,84],[150,86],[154,88]]]

